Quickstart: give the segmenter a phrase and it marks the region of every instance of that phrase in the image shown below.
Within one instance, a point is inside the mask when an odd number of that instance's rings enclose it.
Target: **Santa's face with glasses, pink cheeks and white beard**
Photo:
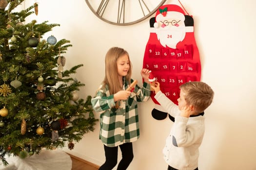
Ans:
[[[159,21],[156,34],[163,47],[168,46],[176,49],[177,43],[182,41],[186,34],[184,20],[166,18],[163,21]]]

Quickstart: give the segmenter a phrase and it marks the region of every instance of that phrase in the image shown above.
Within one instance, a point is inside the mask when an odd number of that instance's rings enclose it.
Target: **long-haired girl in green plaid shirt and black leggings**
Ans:
[[[139,138],[137,102],[146,102],[150,96],[149,70],[140,71],[143,87],[133,82],[132,64],[124,49],[113,47],[105,56],[105,78],[91,102],[100,114],[99,138],[104,144],[106,161],[99,170],[112,170],[117,165],[118,146],[122,159],[117,170],[126,170],[133,159],[132,142]]]

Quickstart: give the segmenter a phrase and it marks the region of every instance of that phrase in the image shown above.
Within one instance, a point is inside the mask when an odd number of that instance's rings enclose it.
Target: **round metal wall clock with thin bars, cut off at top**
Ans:
[[[114,25],[136,24],[153,15],[166,0],[85,0],[101,20]]]

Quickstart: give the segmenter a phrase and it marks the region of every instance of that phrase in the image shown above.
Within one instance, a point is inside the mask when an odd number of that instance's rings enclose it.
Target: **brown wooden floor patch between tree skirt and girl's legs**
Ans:
[[[72,160],[72,170],[98,170],[99,166],[69,154]]]

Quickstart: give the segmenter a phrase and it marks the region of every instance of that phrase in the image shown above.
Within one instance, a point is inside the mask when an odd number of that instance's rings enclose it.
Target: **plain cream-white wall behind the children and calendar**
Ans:
[[[26,6],[34,2],[27,0]],[[38,2],[39,15],[32,15],[32,19],[60,24],[44,38],[53,34],[58,40],[71,40],[73,47],[65,54],[65,67],[84,64],[76,75],[85,83],[80,97],[95,94],[104,77],[105,53],[113,46],[130,53],[133,78],[141,85],[139,71],[149,37],[148,20],[131,26],[115,26],[94,16],[84,0]],[[256,170],[256,1],[182,2],[195,20],[201,81],[215,91],[214,102],[206,110],[206,133],[200,147],[199,169]],[[167,0],[166,4],[170,3],[177,4],[177,0]],[[162,148],[172,122],[153,119],[153,107],[151,100],[139,104],[141,137],[133,143],[135,157],[128,170],[167,170]],[[99,123],[95,128],[75,144],[74,150],[64,150],[101,165],[105,158],[98,139]]]

